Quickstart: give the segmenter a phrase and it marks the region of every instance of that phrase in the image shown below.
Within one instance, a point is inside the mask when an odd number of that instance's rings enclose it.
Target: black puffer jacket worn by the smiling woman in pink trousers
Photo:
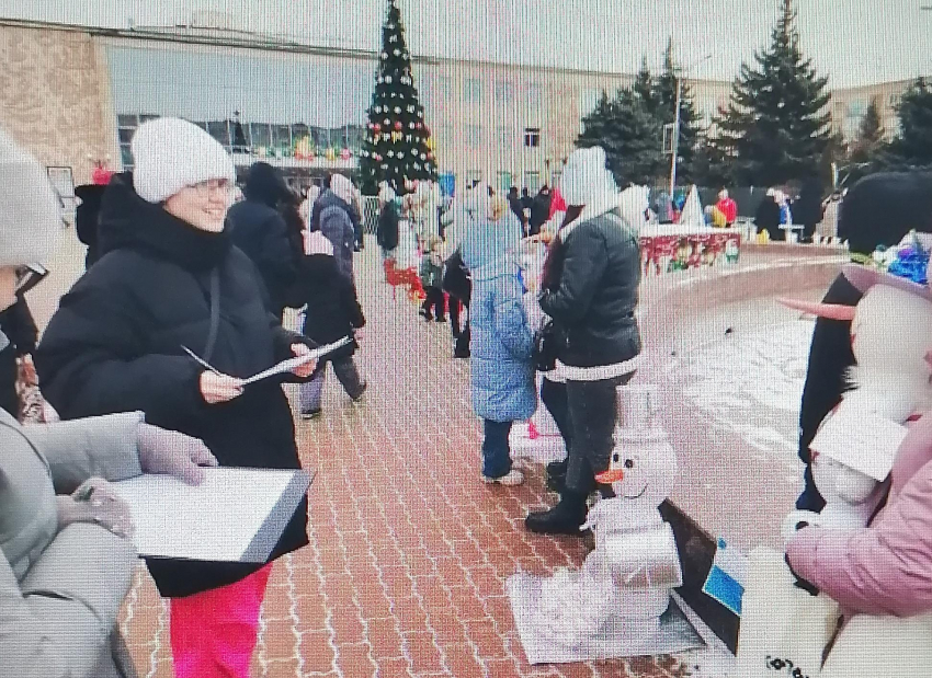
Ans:
[[[297,335],[266,310],[258,273],[226,233],[180,221],[117,175],[101,210],[102,257],[61,299],[36,353],[43,393],[65,418],[143,411],[146,420],[202,438],[221,466],[297,469],[288,402],[266,380],[228,403],[207,405],[203,369],[182,346],[221,372],[248,377],[292,355]],[[209,357],[212,272],[219,323]],[[273,552],[307,543],[306,503]],[[224,586],[257,565],[150,560],[164,596]]]

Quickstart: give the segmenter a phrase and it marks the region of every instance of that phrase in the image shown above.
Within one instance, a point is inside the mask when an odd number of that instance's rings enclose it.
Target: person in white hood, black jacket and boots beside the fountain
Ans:
[[[557,366],[566,377],[571,439],[559,503],[530,514],[525,525],[579,536],[595,475],[609,468],[616,389],[632,379],[640,354],[640,250],[636,229],[617,212],[618,189],[602,148],[573,151],[561,192],[566,226],[550,245],[539,303],[562,336]]]

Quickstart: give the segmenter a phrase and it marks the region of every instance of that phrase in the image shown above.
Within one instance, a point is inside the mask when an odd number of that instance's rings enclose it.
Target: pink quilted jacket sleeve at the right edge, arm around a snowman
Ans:
[[[932,611],[932,413],[900,445],[886,507],[870,527],[800,530],[786,548],[797,575],[846,613]]]

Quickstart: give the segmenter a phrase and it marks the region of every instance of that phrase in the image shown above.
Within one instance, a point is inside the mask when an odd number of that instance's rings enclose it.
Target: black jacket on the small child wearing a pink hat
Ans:
[[[298,274],[302,302],[307,303],[302,332],[316,344],[332,344],[365,326],[356,288],[330,254],[304,257]],[[353,355],[355,344],[334,351],[329,359]]]

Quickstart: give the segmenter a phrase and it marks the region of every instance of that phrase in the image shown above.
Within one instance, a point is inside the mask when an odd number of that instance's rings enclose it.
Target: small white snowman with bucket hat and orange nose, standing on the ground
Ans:
[[[572,647],[644,643],[657,632],[670,590],[682,585],[673,530],[658,509],[673,489],[677,456],[653,422],[657,389],[618,390],[624,426],[609,470],[596,476],[615,497],[599,501],[581,528],[595,536],[582,570],[558,572],[542,590],[544,630]]]

